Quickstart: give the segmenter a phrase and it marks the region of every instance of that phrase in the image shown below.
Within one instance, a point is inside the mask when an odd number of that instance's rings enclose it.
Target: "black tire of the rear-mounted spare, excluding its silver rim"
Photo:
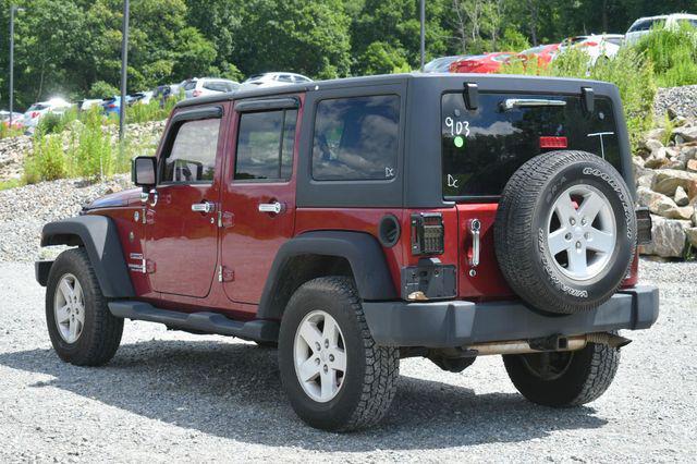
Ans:
[[[548,215],[574,185],[588,185],[608,199],[616,234],[608,265],[597,276],[575,280],[562,273],[547,245]],[[499,202],[494,247],[511,289],[536,309],[573,314],[607,302],[627,276],[636,252],[634,202],[622,175],[602,158],[585,151],[551,151],[523,164]]]

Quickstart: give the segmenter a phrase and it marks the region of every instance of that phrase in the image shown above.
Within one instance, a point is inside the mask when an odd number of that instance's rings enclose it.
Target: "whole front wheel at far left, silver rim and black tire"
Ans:
[[[77,366],[100,366],[121,343],[123,319],[111,315],[82,248],[59,255],[46,288],[46,322],[58,356]]]

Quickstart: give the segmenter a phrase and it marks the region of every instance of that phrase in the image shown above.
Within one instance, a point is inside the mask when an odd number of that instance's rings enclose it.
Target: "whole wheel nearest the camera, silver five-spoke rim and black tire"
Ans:
[[[327,277],[291,297],[279,334],[281,381],[295,413],[323,430],[376,424],[396,390],[400,356],[370,335],[350,279]]]

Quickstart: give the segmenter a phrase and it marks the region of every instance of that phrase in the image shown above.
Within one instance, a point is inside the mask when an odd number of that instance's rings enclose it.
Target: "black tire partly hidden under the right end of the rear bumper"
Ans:
[[[534,374],[525,356],[503,356],[505,370],[515,388],[533,403],[566,407],[590,403],[608,390],[620,366],[620,350],[604,344],[588,343],[585,349],[568,353],[572,358],[561,377],[545,380]]]

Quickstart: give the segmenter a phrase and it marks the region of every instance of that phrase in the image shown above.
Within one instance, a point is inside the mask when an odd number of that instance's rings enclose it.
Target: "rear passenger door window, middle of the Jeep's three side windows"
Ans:
[[[243,113],[235,180],[289,180],[293,172],[297,110]]]

